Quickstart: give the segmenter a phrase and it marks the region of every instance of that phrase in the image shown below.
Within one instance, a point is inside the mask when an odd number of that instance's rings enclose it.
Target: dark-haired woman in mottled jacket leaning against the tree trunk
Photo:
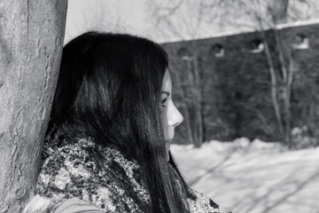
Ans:
[[[103,212],[227,212],[185,184],[169,153],[183,116],[167,66],[166,51],[137,36],[66,44],[38,193]]]

